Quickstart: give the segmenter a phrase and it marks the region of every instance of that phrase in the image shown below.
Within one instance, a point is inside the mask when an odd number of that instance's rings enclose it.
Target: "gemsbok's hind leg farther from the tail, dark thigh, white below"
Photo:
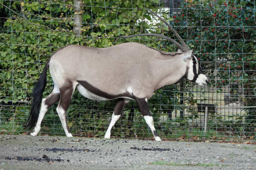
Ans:
[[[75,88],[73,87],[73,85],[71,83],[69,85],[66,84],[65,87],[61,87],[60,88],[60,102],[57,107],[57,112],[60,117],[62,127],[63,127],[67,137],[72,137],[72,134],[70,133],[70,130],[68,127],[66,116],[67,116],[68,106],[70,104],[74,90],[75,90]]]

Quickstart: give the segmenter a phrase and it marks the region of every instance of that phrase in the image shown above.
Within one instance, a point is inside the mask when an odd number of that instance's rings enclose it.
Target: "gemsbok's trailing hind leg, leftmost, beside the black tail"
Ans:
[[[38,134],[38,132],[41,129],[41,123],[44,119],[45,113],[48,111],[48,109],[54,103],[56,103],[59,100],[60,100],[60,90],[59,90],[59,87],[57,85],[54,85],[54,88],[53,88],[53,91],[51,92],[51,94],[42,100],[42,105],[41,105],[39,116],[38,116],[38,119],[37,119],[37,122],[36,122],[36,127],[34,129],[34,132],[31,133],[30,135],[36,136]]]

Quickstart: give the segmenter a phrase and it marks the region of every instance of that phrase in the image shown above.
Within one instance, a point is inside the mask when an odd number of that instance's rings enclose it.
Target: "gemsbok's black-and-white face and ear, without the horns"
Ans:
[[[180,49],[178,51],[181,52]],[[202,86],[208,84],[207,77],[204,75],[198,59],[193,54],[193,50],[182,55],[182,62],[187,64],[185,78]]]

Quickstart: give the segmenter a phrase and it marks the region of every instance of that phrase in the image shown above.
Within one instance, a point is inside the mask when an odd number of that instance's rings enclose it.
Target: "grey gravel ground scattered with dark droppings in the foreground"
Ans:
[[[256,145],[0,135],[0,170],[255,169]]]

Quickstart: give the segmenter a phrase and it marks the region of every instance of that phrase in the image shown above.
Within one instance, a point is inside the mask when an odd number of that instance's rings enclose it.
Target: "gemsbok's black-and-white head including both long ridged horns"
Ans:
[[[148,9],[148,8],[147,8]],[[207,85],[208,81],[206,76],[203,73],[203,70],[198,63],[198,60],[195,55],[193,55],[193,50],[190,50],[186,43],[182,40],[180,35],[168,24],[167,21],[165,21],[163,18],[159,17],[155,12],[152,10],[148,9],[148,11],[152,12],[157,18],[159,18],[161,21],[163,21],[169,29],[174,33],[174,35],[180,40],[181,44],[176,42],[175,40],[166,37],[164,35],[160,34],[155,34],[155,33],[142,33],[142,34],[136,34],[136,35],[129,35],[129,36],[121,36],[121,37],[135,37],[135,36],[143,36],[143,35],[150,35],[150,36],[156,36],[156,37],[161,37],[164,38],[168,41],[171,41],[173,44],[175,44],[178,47],[178,52],[185,52],[182,55],[182,62],[187,63],[187,71],[185,74],[185,77],[192,81],[195,82],[199,85]]]

